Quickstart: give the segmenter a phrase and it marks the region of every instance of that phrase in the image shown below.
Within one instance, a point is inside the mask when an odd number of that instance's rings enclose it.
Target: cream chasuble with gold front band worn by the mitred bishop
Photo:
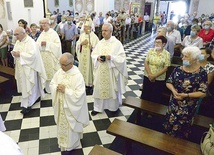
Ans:
[[[80,45],[85,39],[88,41],[87,45]],[[92,46],[90,49],[89,42]],[[93,69],[94,65],[91,60],[91,52],[93,52],[94,47],[99,42],[99,38],[94,34],[94,32],[89,34],[82,33],[79,40],[76,43],[76,53],[79,60],[79,70],[83,75],[86,86],[93,85]]]

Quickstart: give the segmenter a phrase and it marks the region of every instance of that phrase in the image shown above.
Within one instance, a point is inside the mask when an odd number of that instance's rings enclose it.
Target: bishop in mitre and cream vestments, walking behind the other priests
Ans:
[[[86,89],[91,95],[93,89],[93,64],[91,60],[91,53],[95,48],[96,44],[99,42],[97,35],[91,31],[92,20],[86,19],[84,23],[84,33],[79,37],[76,43],[76,53],[79,60],[79,70],[83,75],[85,80]]]

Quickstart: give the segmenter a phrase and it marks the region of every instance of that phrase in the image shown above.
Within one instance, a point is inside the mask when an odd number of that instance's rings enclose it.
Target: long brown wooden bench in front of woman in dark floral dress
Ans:
[[[128,154],[132,142],[146,145],[174,155],[201,154],[199,144],[184,139],[175,138],[170,135],[119,119],[114,119],[106,132],[108,134],[123,138],[126,141],[126,150],[124,154]]]

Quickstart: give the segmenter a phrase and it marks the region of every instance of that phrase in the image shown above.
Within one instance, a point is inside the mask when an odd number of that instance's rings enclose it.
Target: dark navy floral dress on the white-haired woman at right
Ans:
[[[207,91],[207,73],[200,67],[198,72],[187,73],[176,67],[167,83],[171,83],[178,93],[192,93]],[[170,97],[164,128],[166,133],[174,137],[187,138],[191,133],[193,117],[198,105],[198,98],[184,98],[176,100]]]

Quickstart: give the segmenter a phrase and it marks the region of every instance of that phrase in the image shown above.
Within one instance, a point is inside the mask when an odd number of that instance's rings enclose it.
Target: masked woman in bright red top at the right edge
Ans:
[[[198,36],[203,39],[204,46],[209,46],[214,37],[214,30],[212,29],[211,21],[207,20],[204,22],[203,29],[201,29]]]

